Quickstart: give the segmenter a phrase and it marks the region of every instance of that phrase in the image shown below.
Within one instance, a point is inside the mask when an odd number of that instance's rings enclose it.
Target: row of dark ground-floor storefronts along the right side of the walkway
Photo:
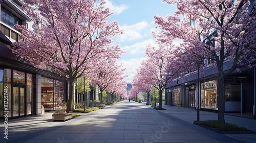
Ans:
[[[241,73],[224,77],[225,112],[254,115],[255,70],[255,68],[246,68]],[[216,69],[212,68],[204,71],[204,77],[200,74],[201,110],[218,112],[216,73]],[[196,108],[198,103],[196,75],[187,76],[168,84],[165,89],[165,103],[172,106]]]

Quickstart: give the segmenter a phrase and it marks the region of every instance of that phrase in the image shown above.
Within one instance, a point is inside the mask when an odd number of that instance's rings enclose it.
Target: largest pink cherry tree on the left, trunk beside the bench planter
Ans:
[[[104,1],[24,0],[24,10],[34,21],[34,30],[16,28],[25,40],[11,46],[13,53],[25,58],[34,67],[65,74],[69,79],[67,112],[72,112],[73,82],[90,73],[101,55],[119,57],[121,50],[112,46],[112,38],[122,33]]]

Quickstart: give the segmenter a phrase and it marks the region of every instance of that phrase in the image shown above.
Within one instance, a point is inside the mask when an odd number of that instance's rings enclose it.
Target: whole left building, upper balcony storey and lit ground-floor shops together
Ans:
[[[68,98],[68,81],[49,70],[34,68],[15,56],[7,45],[20,39],[14,25],[33,29],[32,19],[20,9],[22,1],[1,3],[0,117],[16,118],[62,109]]]

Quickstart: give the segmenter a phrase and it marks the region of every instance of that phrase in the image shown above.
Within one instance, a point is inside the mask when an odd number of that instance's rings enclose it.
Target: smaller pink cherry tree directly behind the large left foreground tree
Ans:
[[[102,104],[102,92],[111,89],[117,81],[122,81],[125,68],[117,64],[115,58],[100,59],[96,63],[95,70],[90,74],[91,80],[98,85],[100,90],[100,104]]]

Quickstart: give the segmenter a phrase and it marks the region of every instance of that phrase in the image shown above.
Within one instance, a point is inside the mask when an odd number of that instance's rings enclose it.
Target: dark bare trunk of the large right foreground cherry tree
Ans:
[[[218,122],[219,124],[225,124],[225,108],[224,108],[224,73],[223,70],[219,70],[218,77],[218,91],[217,91],[217,103],[218,103]]]

